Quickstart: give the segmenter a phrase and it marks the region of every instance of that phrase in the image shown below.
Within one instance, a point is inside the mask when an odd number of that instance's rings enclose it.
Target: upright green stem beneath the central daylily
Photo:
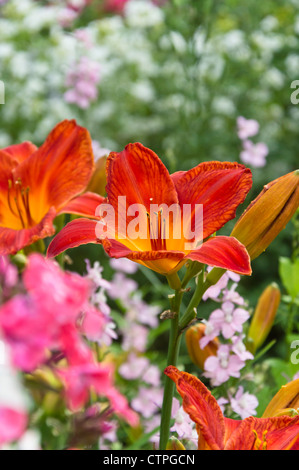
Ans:
[[[175,313],[173,319],[171,319],[171,326],[170,326],[170,335],[169,335],[169,344],[168,344],[168,354],[167,354],[167,366],[176,366],[179,349],[180,349],[180,342],[181,342],[181,335],[179,330],[179,313],[181,307],[183,293],[181,290],[177,290],[175,293],[172,310]],[[162,404],[162,413],[161,413],[161,426],[160,426],[160,450],[165,450],[167,446],[167,442],[169,439],[169,429],[170,429],[170,420],[171,420],[171,408],[172,408],[172,399],[174,394],[175,384],[169,378],[165,378],[165,386],[164,386],[164,396],[163,396],[163,404]]]

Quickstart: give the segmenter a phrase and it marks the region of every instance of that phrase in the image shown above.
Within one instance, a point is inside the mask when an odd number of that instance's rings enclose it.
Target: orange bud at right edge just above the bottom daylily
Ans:
[[[299,379],[296,379],[281,387],[267,406],[263,418],[282,415],[295,416],[298,411]]]

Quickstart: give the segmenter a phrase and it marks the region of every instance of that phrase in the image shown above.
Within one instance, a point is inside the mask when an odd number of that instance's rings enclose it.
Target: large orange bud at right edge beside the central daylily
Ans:
[[[285,228],[299,207],[299,170],[264,186],[237,221],[231,236],[257,258]]]

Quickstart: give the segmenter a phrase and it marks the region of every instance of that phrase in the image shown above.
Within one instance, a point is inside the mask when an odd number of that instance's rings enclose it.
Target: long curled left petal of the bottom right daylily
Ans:
[[[183,408],[200,429],[202,438],[212,450],[224,448],[225,425],[221,409],[216,399],[205,385],[187,372],[168,366],[165,374],[176,384],[177,391],[183,398]]]

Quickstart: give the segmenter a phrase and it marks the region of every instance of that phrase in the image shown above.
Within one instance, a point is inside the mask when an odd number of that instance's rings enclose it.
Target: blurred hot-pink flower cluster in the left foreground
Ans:
[[[6,273],[8,269],[14,272],[6,259],[2,265],[6,265]],[[15,276],[13,279],[15,283]],[[93,389],[110,402],[116,414],[137,424],[137,416],[114,387],[112,367],[98,363],[83,338],[95,341],[107,334],[105,303],[97,294],[102,312],[90,302],[92,285],[88,277],[64,272],[55,262],[32,254],[22,281],[22,291],[0,308],[1,337],[13,367],[31,374],[43,366],[50,368],[61,381],[67,407],[72,411],[87,404]],[[25,418],[21,422],[18,418],[17,423],[24,428]],[[12,433],[6,441],[16,437]]]

